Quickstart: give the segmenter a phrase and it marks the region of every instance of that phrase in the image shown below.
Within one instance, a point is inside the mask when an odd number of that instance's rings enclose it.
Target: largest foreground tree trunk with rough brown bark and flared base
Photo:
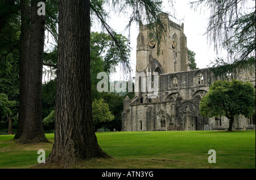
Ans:
[[[98,145],[90,93],[90,1],[59,1],[55,141],[49,163],[109,157]]]

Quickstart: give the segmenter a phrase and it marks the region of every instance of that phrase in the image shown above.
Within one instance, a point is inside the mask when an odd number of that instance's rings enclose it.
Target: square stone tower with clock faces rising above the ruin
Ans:
[[[136,72],[175,73],[188,70],[187,37],[184,35],[184,24],[180,26],[168,18],[168,14],[159,15],[168,24],[167,36],[161,44],[162,55],[157,55],[157,44],[154,37],[148,37],[146,25],[140,26],[137,37]]]

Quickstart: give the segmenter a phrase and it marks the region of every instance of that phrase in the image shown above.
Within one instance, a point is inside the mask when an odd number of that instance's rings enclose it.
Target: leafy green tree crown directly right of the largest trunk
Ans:
[[[90,81],[93,100],[101,98],[101,93],[97,91],[97,83],[101,79],[97,79],[97,74],[100,72],[110,74],[110,68],[122,63],[122,53],[125,53],[127,58],[130,57],[131,50],[127,46],[127,38],[115,32],[113,34],[115,39],[118,40],[119,45],[122,46],[122,52],[119,51],[119,48],[114,43],[113,37],[109,34],[105,34],[104,32],[90,33]]]

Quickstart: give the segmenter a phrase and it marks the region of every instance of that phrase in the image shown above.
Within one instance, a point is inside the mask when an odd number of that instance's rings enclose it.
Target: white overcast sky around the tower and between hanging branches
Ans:
[[[163,0],[163,11],[171,11],[171,7],[169,6],[168,0]],[[189,0],[179,0],[176,1],[175,6],[175,19],[174,22],[181,24],[184,23],[184,34],[187,36],[187,47],[191,51],[196,53],[195,59],[197,67],[207,68],[207,65],[210,64],[210,60],[214,60],[214,51],[213,47],[210,47],[210,44],[207,40],[207,35],[204,33],[207,30],[208,18],[209,18],[209,10],[203,11],[195,11],[191,9],[189,5]],[[172,14],[172,12],[171,12]],[[124,16],[117,16],[117,14],[110,14],[109,24],[110,26],[117,31],[118,33],[122,33],[123,35],[127,36],[128,32],[125,31],[125,27],[128,23],[129,19],[125,18]],[[96,31],[97,27],[92,27],[92,31]],[[131,68],[133,69],[132,76],[134,77],[135,74],[135,66],[136,66],[136,47],[137,47],[137,36],[138,36],[138,26],[133,24],[130,31],[130,45],[132,48],[131,51],[131,58],[130,64]],[[117,73],[115,73],[114,78],[116,80],[122,79],[122,75],[119,74],[119,69],[117,68]]]

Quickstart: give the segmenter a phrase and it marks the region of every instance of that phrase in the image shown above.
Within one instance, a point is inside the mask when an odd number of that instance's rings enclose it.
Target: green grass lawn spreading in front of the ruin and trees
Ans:
[[[98,132],[98,144],[113,158],[91,159],[72,168],[225,168],[255,169],[255,131]],[[54,135],[46,134],[53,143]],[[39,149],[49,143],[16,144],[13,135],[0,136],[0,168],[31,168]],[[216,150],[209,164],[208,150]],[[47,168],[59,168],[47,166]]]

